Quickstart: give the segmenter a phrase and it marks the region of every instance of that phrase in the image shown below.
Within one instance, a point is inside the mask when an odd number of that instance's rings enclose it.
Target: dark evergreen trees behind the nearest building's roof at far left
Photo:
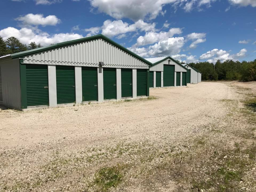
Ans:
[[[0,36],[0,57],[8,54],[22,52],[30,49],[43,47],[41,44],[31,42],[30,44],[22,44],[20,40],[15,37],[9,37],[6,41]]]

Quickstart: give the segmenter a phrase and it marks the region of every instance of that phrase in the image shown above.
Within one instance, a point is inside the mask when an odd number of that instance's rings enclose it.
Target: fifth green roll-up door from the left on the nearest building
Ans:
[[[121,70],[122,97],[132,97],[132,69]]]

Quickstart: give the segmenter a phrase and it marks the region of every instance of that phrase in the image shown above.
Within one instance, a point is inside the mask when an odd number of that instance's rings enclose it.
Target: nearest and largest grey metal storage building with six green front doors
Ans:
[[[0,104],[11,108],[149,95],[152,64],[104,35],[0,58]]]

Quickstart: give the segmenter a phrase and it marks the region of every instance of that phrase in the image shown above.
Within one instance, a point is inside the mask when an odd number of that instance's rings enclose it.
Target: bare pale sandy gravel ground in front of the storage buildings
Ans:
[[[241,94],[236,93],[230,84],[240,86],[241,83],[201,82],[188,87],[156,88],[150,90],[151,96],[158,97],[153,100],[26,112],[2,110],[0,191],[11,190],[13,186],[17,191],[32,190],[33,187],[28,183],[40,174],[36,170],[52,163],[57,153],[58,157],[67,157],[81,151],[87,153],[93,148],[104,150],[120,143],[148,143],[154,148],[166,145],[182,148],[189,140],[205,134],[206,125],[222,123],[229,112],[221,102],[222,99],[241,99]],[[256,92],[256,83],[247,83],[246,86]],[[128,161],[127,158],[125,160]],[[118,161],[119,158],[113,158],[103,163],[113,165]],[[86,163],[84,166],[90,167]],[[96,169],[97,166],[91,166],[87,173],[93,177]],[[79,182],[80,177],[66,175],[64,179],[61,177],[34,186],[33,190],[58,191],[59,186],[74,178]],[[17,183],[26,183],[28,187],[23,189]],[[168,185],[169,190],[166,191],[172,191],[173,183],[169,182]],[[131,188],[133,191],[143,191],[139,186],[130,186],[127,191],[131,191]]]

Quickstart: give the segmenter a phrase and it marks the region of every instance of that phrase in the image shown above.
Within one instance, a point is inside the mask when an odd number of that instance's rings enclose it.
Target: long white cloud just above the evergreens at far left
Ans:
[[[56,44],[63,41],[70,41],[73,39],[82,38],[82,35],[76,33],[58,33],[49,35],[47,32],[38,32],[28,28],[16,29],[14,27],[8,27],[0,30],[0,36],[6,41],[9,37],[18,38],[21,43],[29,44],[30,42],[40,43],[43,46],[49,44]]]

